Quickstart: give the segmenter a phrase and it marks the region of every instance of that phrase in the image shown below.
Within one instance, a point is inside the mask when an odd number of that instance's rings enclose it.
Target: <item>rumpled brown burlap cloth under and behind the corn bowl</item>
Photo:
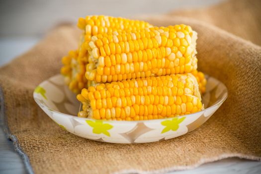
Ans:
[[[174,15],[145,17],[156,25],[191,25],[198,32],[199,69],[228,87],[226,102],[195,131],[163,142],[122,145],[87,140],[57,126],[32,93],[40,82],[59,73],[61,57],[77,47],[79,30],[63,25],[0,69],[10,139],[27,154],[37,174],[162,173],[227,157],[261,160],[261,47],[252,43],[261,45],[260,7],[260,0],[235,0],[174,12],[201,21]],[[26,155],[19,153],[30,172]]]

